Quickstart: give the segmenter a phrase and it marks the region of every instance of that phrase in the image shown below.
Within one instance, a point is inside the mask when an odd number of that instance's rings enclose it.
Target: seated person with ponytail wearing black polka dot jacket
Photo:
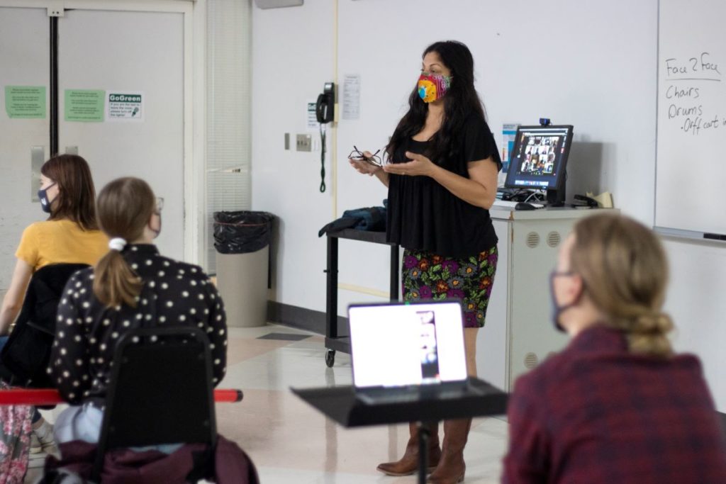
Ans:
[[[59,443],[97,443],[115,346],[131,329],[200,327],[211,343],[213,385],[224,377],[222,300],[201,268],[163,257],[152,244],[161,230],[160,201],[136,178],[111,181],[99,193],[98,221],[110,251],[70,278],[58,306],[49,372],[71,405],[55,424]]]

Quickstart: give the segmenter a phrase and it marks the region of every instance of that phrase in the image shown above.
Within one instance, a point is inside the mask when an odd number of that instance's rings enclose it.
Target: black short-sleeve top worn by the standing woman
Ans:
[[[468,163],[492,157],[502,169],[494,135],[484,118],[470,115],[465,122],[462,149],[454,159],[432,160],[446,170],[469,177]],[[392,163],[405,163],[410,151],[425,154],[430,141],[409,139],[394,153]],[[486,161],[484,163],[491,163]],[[478,255],[497,245],[489,210],[471,205],[429,176],[389,175],[388,242],[444,257]]]

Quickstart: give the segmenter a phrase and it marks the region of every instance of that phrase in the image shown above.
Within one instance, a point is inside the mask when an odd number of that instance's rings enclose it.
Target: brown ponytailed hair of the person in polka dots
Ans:
[[[121,237],[130,243],[144,234],[156,197],[145,181],[126,177],[104,186],[97,205],[101,230],[109,239]],[[109,250],[94,268],[94,295],[109,308],[121,304],[135,308],[143,285],[118,250]]]

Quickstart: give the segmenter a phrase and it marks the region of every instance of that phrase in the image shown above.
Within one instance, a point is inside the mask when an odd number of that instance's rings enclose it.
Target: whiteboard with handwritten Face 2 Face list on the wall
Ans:
[[[723,0],[660,1],[655,226],[666,234],[726,234],[725,16]]]

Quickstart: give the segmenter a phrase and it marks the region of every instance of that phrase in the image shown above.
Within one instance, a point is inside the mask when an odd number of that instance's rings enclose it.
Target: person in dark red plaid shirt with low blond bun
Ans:
[[[674,354],[666,255],[630,218],[576,224],[550,276],[572,337],[520,377],[503,483],[726,483],[726,446],[698,358]]]

